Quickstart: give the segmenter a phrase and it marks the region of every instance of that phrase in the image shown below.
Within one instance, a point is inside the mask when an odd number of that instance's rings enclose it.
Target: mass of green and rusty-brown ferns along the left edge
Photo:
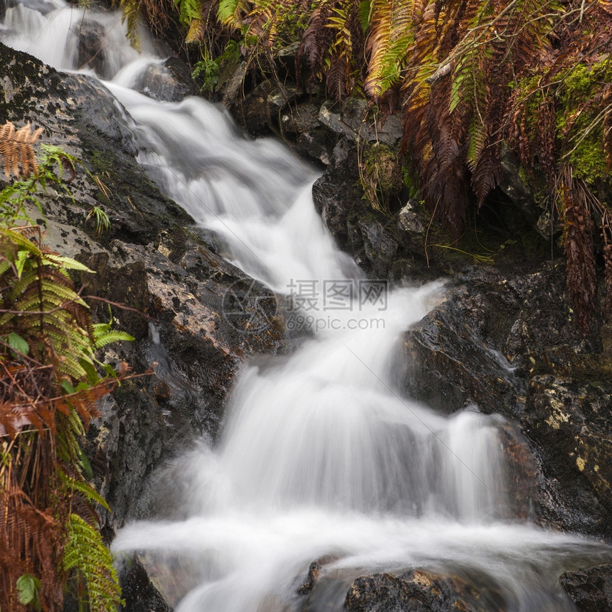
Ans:
[[[19,145],[22,159],[32,144]],[[0,145],[5,159],[7,147],[14,140]],[[45,246],[28,217],[26,204],[41,208],[36,190],[60,183],[53,164],[70,160],[44,150],[0,194],[0,608],[59,611],[76,581],[92,609],[111,611],[120,591],[94,509],[106,505],[88,484],[79,440],[97,400],[125,375],[95,350],[131,337],[93,323],[68,275],[90,270]]]

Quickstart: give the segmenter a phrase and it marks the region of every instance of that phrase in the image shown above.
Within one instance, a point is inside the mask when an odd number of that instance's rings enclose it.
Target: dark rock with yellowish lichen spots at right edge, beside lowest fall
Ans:
[[[545,473],[542,512],[559,527],[591,534],[612,534],[612,386],[552,374],[529,381],[522,426],[534,440]],[[554,502],[559,488],[563,502]],[[561,506],[561,507],[559,507]]]

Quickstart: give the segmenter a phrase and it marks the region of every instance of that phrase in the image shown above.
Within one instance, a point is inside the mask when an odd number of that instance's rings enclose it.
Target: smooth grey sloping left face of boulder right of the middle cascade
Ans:
[[[408,393],[451,412],[474,402],[487,413],[522,413],[524,380],[496,348],[503,332],[484,327],[508,325],[516,316],[515,296],[507,292],[501,275],[496,280],[486,296],[478,295],[473,285],[456,287],[406,332]],[[504,310],[496,313],[500,305]]]

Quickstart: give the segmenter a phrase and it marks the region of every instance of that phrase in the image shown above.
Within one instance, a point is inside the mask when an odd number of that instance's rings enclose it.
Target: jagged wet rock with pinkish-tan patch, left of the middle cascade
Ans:
[[[283,325],[276,318],[276,300],[269,290],[258,284],[253,290],[255,281],[207,250],[196,235],[166,244],[169,246],[160,249],[163,243],[154,248],[115,241],[110,263],[107,254],[90,258],[102,271],[97,288],[113,301],[125,294],[126,283],[108,286],[105,275],[125,275],[130,280],[137,271],[136,278],[144,287],[135,295],[142,300],[146,297],[145,310],[157,321],[150,338],[141,336],[139,342],[112,347],[104,357],[113,366],[125,361],[136,373],[154,372],[115,391],[117,406],[132,408],[125,408],[125,415],[119,417],[112,411],[105,413],[90,433],[96,440],[100,474],[108,481],[108,499],[114,502],[112,527],[120,526],[134,512],[146,514],[151,500],[139,500],[137,492],[144,491],[147,475],[162,456],[172,456],[185,440],[202,433],[216,436],[233,376],[244,359],[285,349]],[[125,262],[118,269],[112,265],[117,260]],[[237,313],[231,311],[228,296],[239,300]],[[147,325],[118,312],[120,327]],[[142,423],[147,426],[136,426],[143,415]],[[120,427],[117,433],[117,418],[131,419],[133,424]],[[107,431],[115,435],[108,438],[105,434],[102,442],[99,436]],[[153,437],[141,439],[149,435]]]

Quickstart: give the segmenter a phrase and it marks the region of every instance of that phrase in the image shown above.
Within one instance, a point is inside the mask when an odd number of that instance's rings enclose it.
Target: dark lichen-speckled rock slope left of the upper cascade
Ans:
[[[141,244],[165,228],[192,222],[144,176],[126,119],[115,98],[97,80],[61,75],[1,43],[0,66],[4,119],[22,125],[27,117],[36,127],[45,128],[42,142],[62,147],[97,176],[96,182],[77,169],[70,184],[76,205],[63,189],[48,189],[43,200],[54,221],[71,228],[72,233],[72,228],[83,227],[90,208],[99,206],[110,218],[110,231],[97,241],[121,238]],[[68,240],[64,242],[68,245]]]

